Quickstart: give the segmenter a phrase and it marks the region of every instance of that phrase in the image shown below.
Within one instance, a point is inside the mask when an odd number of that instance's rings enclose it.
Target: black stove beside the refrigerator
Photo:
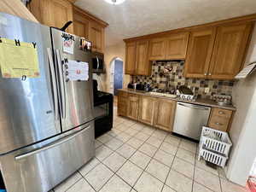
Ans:
[[[98,83],[93,80],[95,111],[95,137],[100,137],[113,127],[113,95],[98,90]]]

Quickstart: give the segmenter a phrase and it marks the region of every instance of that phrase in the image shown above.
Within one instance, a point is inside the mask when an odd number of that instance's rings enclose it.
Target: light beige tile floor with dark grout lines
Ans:
[[[197,144],[116,116],[96,157],[55,192],[243,192],[196,158]]]

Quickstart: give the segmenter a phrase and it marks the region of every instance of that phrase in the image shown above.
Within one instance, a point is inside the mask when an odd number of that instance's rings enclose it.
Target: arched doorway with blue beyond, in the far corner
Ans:
[[[114,57],[110,67],[110,91],[117,96],[119,89],[123,88],[124,62],[119,57]]]

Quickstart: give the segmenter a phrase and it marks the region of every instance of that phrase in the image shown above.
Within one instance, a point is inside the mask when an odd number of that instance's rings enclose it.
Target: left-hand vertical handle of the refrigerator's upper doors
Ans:
[[[48,59],[49,59],[49,71],[51,74],[52,87],[53,87],[55,120],[57,120],[58,119],[58,96],[57,96],[57,87],[56,87],[55,67],[54,67],[54,61],[53,61],[51,49],[47,48],[47,52],[48,52]]]

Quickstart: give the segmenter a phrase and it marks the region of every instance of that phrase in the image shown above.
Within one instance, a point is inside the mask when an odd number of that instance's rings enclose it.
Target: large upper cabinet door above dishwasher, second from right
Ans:
[[[215,36],[215,28],[191,32],[184,68],[186,78],[207,78]]]

